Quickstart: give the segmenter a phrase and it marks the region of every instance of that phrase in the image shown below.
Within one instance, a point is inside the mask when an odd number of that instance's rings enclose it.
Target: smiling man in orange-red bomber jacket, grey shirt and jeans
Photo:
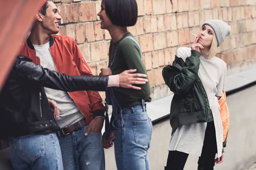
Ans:
[[[52,1],[39,12],[31,34],[23,42],[20,56],[44,68],[67,75],[93,75],[78,45],[71,37],[57,36],[61,16]],[[56,119],[65,170],[105,170],[101,130],[104,106],[99,92],[64,92],[45,88],[48,99],[57,102],[60,117]]]

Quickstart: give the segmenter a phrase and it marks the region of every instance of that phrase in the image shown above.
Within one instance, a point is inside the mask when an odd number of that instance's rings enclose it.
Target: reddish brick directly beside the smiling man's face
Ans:
[[[61,23],[77,23],[77,5],[76,4],[61,4],[58,6],[59,13],[62,17]]]

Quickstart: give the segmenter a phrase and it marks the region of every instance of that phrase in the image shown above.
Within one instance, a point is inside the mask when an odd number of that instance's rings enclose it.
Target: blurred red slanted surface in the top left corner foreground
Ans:
[[[46,0],[0,0],[0,90],[32,25]]]

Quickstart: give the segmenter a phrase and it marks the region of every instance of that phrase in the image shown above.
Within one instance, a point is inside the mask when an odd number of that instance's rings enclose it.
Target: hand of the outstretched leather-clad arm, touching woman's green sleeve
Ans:
[[[136,69],[126,70],[119,74],[119,86],[122,88],[133,88],[136,90],[140,90],[140,87],[134,86],[136,85],[144,85],[148,82],[148,79],[144,79],[147,77],[146,74],[134,73]]]

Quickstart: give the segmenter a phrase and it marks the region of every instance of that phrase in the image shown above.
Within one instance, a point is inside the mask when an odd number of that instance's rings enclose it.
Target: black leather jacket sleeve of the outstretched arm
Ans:
[[[25,59],[18,59],[15,72],[29,83],[62,91],[95,90],[105,91],[108,76],[67,76],[35,65]],[[23,81],[24,82],[24,81]]]

